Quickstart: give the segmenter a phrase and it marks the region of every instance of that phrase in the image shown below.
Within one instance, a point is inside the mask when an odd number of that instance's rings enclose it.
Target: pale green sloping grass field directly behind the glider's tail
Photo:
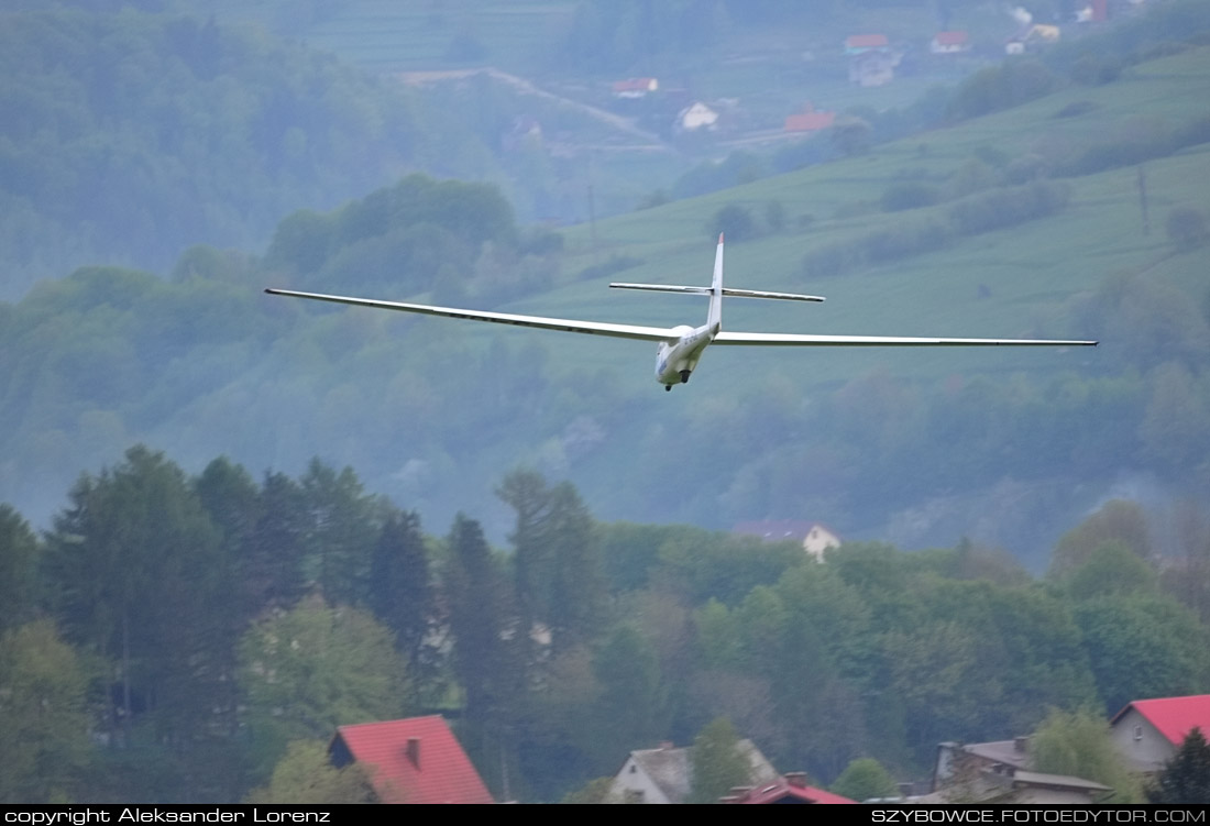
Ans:
[[[1056,119],[1072,100],[1093,106],[1076,117]],[[1210,213],[1210,146],[1202,145],[1146,164],[1151,232],[1143,235],[1137,198],[1136,168],[1111,169],[1070,179],[1072,200],[1056,216],[1016,227],[967,237],[952,247],[909,258],[894,265],[807,281],[801,276],[803,255],[813,247],[832,243],[915,213],[872,212],[834,218],[846,204],[877,201],[886,186],[905,174],[944,180],[979,149],[1016,156],[1045,141],[1074,145],[1097,137],[1120,134],[1148,120],[1168,123],[1206,114],[1210,100],[1210,48],[1186,52],[1140,65],[1119,82],[1100,88],[1071,88],[1026,106],[970,121],[961,126],[878,146],[866,156],[803,169],[786,175],[620,215],[597,225],[598,249],[589,249],[589,227],[566,231],[571,252],[564,283],[548,294],[518,301],[515,312],[626,320],[644,324],[701,323],[704,302],[687,296],[620,293],[609,281],[705,283],[713,261],[713,239],[707,225],[727,203],[750,207],[757,215],[768,201],[780,201],[795,226],[797,215],[817,220],[806,232],[766,236],[727,246],[727,283],[734,287],[819,293],[824,305],[788,305],[732,300],[725,306],[731,329],[782,331],[1071,337],[1073,329],[1064,305],[1072,296],[1095,290],[1106,277],[1157,270],[1182,284],[1200,300],[1206,289],[1210,255],[1202,250],[1169,258],[1172,246],[1164,218],[1175,206],[1192,204]],[[920,146],[927,145],[922,154]],[[934,207],[930,209],[945,209]],[[580,282],[575,273],[611,254],[643,259],[644,264],[606,278]],[[980,285],[990,293],[979,298]],[[468,335],[524,336],[517,331],[476,329]],[[1112,335],[1104,331],[1101,335]],[[552,368],[616,369],[629,380],[638,372],[651,382],[651,353],[641,346],[612,345],[597,339],[552,342]],[[555,350],[557,348],[557,350]],[[636,363],[628,353],[638,352]],[[1030,369],[1096,366],[1104,351],[1053,352],[1048,350],[791,351],[721,352],[711,350],[701,380],[718,386],[741,386],[757,392],[773,372],[805,385],[845,381],[878,366],[897,375],[923,379],[967,371],[1012,372]],[[652,389],[655,389],[653,382]]]

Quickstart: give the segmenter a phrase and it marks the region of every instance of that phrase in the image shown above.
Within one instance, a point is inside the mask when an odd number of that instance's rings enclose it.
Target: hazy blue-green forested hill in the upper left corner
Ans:
[[[82,264],[163,270],[260,248],[302,208],[410,169],[491,177],[439,108],[322,52],[213,18],[0,17],[0,295]]]

